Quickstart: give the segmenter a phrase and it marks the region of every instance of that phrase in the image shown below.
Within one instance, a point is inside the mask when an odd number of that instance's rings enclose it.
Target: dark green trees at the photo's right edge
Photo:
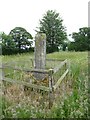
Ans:
[[[74,42],[69,45],[69,50],[74,49],[75,51],[86,51],[90,50],[90,28],[83,27],[79,29],[79,32],[73,32],[72,38]]]

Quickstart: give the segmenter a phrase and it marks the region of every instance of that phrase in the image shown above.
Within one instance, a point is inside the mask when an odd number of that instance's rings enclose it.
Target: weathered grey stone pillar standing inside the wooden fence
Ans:
[[[35,69],[45,69],[46,66],[46,35],[37,33],[35,36]],[[36,74],[35,77],[42,79],[42,75]]]

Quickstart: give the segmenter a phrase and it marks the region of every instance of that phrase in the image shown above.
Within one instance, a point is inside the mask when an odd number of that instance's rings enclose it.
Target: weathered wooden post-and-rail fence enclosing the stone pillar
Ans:
[[[59,61],[57,59],[47,59],[48,61]],[[33,65],[33,60],[31,59],[32,65]],[[64,61],[60,61],[60,64],[58,64],[56,67],[54,67],[53,69],[48,69],[48,70],[41,70],[41,69],[26,69],[26,68],[18,68],[18,67],[13,67],[6,64],[3,64],[2,67],[0,69],[6,69],[6,68],[10,68],[16,71],[24,71],[24,72],[29,72],[29,73],[38,73],[38,74],[47,74],[48,75],[48,87],[47,86],[43,86],[43,85],[37,85],[37,84],[33,84],[33,83],[29,83],[29,82],[25,82],[25,81],[20,81],[20,80],[15,80],[12,78],[8,78],[6,77],[7,75],[3,75],[2,77],[2,81],[6,81],[6,82],[10,82],[10,83],[17,83],[19,85],[24,85],[30,88],[34,88],[34,89],[39,89],[39,90],[43,90],[43,91],[47,91],[49,94],[49,108],[51,108],[51,106],[53,105],[53,92],[57,90],[57,88],[60,86],[60,83],[62,82],[62,80],[64,80],[64,78],[66,77],[66,75],[69,72],[69,64],[68,64],[68,60],[64,60]],[[64,68],[64,72],[62,73],[61,76],[59,76],[59,79],[56,80],[56,82],[53,82],[53,76],[55,73],[57,73],[58,71],[60,71],[62,68]]]

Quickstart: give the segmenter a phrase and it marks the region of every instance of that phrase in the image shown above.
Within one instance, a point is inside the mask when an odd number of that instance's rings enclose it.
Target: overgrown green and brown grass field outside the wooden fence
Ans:
[[[26,60],[33,55],[4,56],[3,61]],[[48,93],[8,84],[3,95],[3,117],[11,118],[86,118],[88,116],[87,52],[61,52],[48,54],[48,58],[68,59],[71,63],[69,76],[54,92],[54,105],[48,109]],[[16,73],[17,74],[17,73]],[[30,74],[23,74],[27,79]],[[31,75],[33,77],[33,75]],[[15,76],[14,76],[15,77]],[[17,77],[17,76],[16,76]],[[18,78],[19,79],[19,78]],[[47,81],[47,80],[46,80]],[[43,81],[45,85],[47,82]],[[35,81],[32,81],[35,82]],[[37,82],[36,84],[43,84]]]

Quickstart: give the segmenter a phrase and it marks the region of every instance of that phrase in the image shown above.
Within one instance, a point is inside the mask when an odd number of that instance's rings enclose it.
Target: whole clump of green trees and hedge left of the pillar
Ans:
[[[24,28],[16,27],[9,35],[4,32],[0,34],[0,45],[3,55],[11,55],[16,53],[23,53],[34,51],[32,48],[32,36]]]

